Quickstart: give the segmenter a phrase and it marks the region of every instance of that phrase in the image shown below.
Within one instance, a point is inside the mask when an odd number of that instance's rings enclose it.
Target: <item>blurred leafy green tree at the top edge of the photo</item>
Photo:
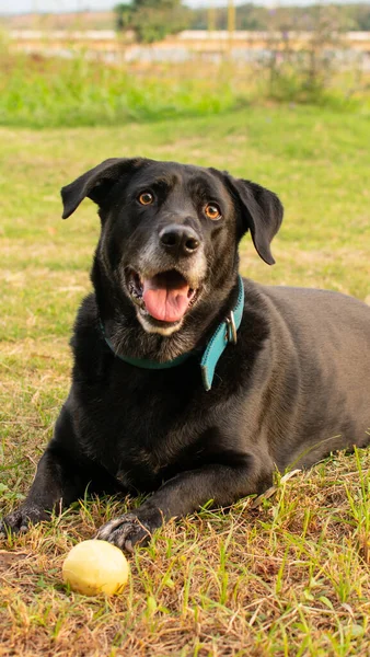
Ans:
[[[185,30],[190,11],[182,0],[132,0],[116,4],[115,14],[117,30],[132,30],[138,42],[150,44]]]

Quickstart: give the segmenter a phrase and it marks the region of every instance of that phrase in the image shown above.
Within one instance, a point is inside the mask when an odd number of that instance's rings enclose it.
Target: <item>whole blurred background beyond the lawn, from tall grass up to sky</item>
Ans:
[[[112,125],[256,102],[369,106],[369,3],[2,3],[2,125]]]

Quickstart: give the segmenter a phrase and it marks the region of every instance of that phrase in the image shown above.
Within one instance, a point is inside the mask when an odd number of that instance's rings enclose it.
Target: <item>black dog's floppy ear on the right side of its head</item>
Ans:
[[[282,221],[284,208],[280,200],[274,192],[251,181],[229,176],[228,182],[241,205],[242,234],[250,230],[258,255],[268,265],[274,265],[269,245]]]

